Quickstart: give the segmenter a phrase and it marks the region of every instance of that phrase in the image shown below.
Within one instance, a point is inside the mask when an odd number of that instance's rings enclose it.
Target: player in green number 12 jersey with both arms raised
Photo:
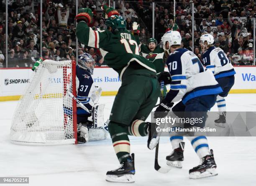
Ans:
[[[92,30],[87,23],[92,11],[82,8],[76,16],[77,38],[89,47],[99,48],[104,62],[118,72],[122,81],[110,114],[108,129],[120,167],[107,172],[107,181],[134,182],[134,154],[130,154],[128,135],[146,136],[145,122],[160,94],[154,64],[139,55],[138,45],[126,30],[123,17],[112,7],[103,5],[108,15],[107,30]]]

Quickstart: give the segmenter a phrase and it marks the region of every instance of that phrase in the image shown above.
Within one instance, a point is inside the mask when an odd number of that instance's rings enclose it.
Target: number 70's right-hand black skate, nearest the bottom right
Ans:
[[[210,150],[210,154],[211,155],[207,155],[202,158],[202,164],[189,170],[190,179],[200,179],[218,175],[216,171],[217,165],[214,161],[212,149]]]

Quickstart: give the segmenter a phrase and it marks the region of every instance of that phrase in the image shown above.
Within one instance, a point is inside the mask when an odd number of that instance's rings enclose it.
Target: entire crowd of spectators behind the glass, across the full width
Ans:
[[[0,67],[5,67],[5,2],[0,2]],[[94,30],[104,29],[101,5],[108,0],[79,0],[78,7],[93,11]],[[113,2],[113,1],[111,1]],[[140,38],[146,41],[152,34],[152,0],[116,0],[115,8],[132,31],[132,23],[143,21]],[[182,36],[182,47],[192,51],[192,3],[194,2],[194,51],[201,58],[204,52],[199,39],[211,34],[215,46],[226,52],[233,65],[253,64],[253,22],[256,5],[253,0],[176,0],[175,23]],[[111,4],[112,5],[112,4]],[[155,37],[160,42],[174,22],[173,0],[155,1]],[[90,53],[97,65],[104,64],[100,51],[79,43],[76,49],[75,1],[44,0],[42,38],[40,39],[40,1],[8,0],[8,67],[32,67],[40,57],[52,60],[76,60],[82,52]],[[142,23],[141,23],[142,25]],[[147,32],[146,32],[147,31]]]

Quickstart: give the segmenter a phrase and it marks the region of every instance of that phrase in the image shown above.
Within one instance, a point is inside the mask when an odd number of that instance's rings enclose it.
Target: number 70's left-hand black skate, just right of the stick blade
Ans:
[[[179,148],[174,149],[169,156],[166,156],[166,164],[169,166],[182,168],[182,161],[184,160],[183,151],[184,151],[185,142],[179,143]]]

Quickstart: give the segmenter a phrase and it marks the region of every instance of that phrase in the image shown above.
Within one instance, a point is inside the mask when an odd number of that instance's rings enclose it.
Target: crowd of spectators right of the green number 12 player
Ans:
[[[176,0],[175,23],[182,36],[182,46],[191,51],[192,2],[195,17],[193,52],[201,58],[204,51],[199,45],[200,36],[211,34],[215,39],[215,47],[222,48],[233,65],[252,65],[253,17],[256,17],[256,2],[253,0]],[[155,36],[159,42],[166,29],[173,25],[174,6],[173,0],[157,0],[155,5]],[[133,6],[136,7],[137,12],[143,12],[146,15],[146,20],[153,19],[151,5],[140,1],[137,4],[133,3]],[[151,27],[151,22],[146,21],[148,27]]]

